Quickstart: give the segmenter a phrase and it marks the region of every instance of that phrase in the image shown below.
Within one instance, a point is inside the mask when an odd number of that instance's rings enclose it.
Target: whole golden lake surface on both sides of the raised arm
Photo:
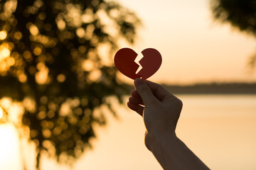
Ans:
[[[176,133],[210,169],[256,169],[256,95],[178,95],[178,98],[183,101],[183,111]],[[97,127],[93,149],[85,152],[72,169],[161,169],[144,146],[142,118],[126,106],[117,109],[119,119],[107,114],[108,125]],[[1,139],[9,140],[2,138],[3,128],[1,125]],[[2,140],[0,147],[3,144]],[[9,152],[5,155],[12,158],[18,154],[14,149]],[[31,154],[32,151],[26,157],[32,167]],[[14,161],[11,157],[3,157],[0,152],[0,158],[0,169],[14,167],[10,164]],[[69,169],[46,158],[42,163],[42,169]]]

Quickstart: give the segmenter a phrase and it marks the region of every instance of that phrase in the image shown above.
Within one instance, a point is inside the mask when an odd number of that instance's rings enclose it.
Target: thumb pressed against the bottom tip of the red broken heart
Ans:
[[[142,79],[135,79],[134,86],[139,96],[142,98],[142,101],[145,106],[156,103],[156,97],[154,96],[154,94],[152,94],[151,90],[149,89],[149,86],[147,86]]]

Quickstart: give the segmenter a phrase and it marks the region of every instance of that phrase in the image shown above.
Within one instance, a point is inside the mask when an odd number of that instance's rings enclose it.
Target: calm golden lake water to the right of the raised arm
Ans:
[[[180,96],[177,133],[211,169],[256,169],[256,96]]]

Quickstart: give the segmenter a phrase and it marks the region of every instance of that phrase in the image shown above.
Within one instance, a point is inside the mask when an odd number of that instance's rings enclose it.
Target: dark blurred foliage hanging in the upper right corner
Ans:
[[[256,1],[255,0],[212,0],[214,17],[223,23],[256,37]],[[250,67],[255,67],[256,53],[249,60]]]

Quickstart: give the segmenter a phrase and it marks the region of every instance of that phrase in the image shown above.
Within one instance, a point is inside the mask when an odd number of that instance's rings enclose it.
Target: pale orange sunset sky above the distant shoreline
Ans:
[[[256,81],[256,72],[247,67],[256,50],[255,38],[214,21],[210,1],[117,1],[143,23],[135,45],[128,47],[138,54],[154,47],[162,55],[159,71],[149,80],[169,84]]]

